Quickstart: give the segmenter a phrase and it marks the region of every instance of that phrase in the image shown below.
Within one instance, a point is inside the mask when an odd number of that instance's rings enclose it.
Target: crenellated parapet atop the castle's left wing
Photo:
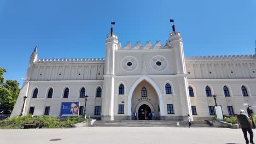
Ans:
[[[49,58],[38,59],[36,63],[65,63],[65,62],[104,62],[104,58]]]

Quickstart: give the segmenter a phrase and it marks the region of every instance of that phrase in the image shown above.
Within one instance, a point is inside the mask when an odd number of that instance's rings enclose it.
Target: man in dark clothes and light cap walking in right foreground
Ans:
[[[248,137],[247,137],[247,131],[250,134],[250,143],[253,143],[253,131],[252,131],[252,121],[248,117],[248,115],[245,113],[245,110],[240,110],[240,114],[237,115],[236,121],[239,125],[239,128],[242,128],[243,136],[245,137],[246,143],[249,143]]]

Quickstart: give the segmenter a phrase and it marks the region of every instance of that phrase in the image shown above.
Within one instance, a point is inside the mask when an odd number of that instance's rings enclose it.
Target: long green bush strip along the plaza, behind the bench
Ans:
[[[90,118],[67,117],[59,119],[56,116],[40,116],[32,118],[31,115],[13,117],[0,121],[0,129],[23,129],[28,121],[40,121],[39,128],[70,128],[72,124],[86,121]]]

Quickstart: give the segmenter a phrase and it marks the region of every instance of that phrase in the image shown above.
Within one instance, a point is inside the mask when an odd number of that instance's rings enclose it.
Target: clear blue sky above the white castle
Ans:
[[[28,1],[0,0],[0,67],[5,80],[25,78],[30,55],[39,58],[104,58],[114,33],[123,46],[181,32],[185,56],[253,55],[256,1]]]

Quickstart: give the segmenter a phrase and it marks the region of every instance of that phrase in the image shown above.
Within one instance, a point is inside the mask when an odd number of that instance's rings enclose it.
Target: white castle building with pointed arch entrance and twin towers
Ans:
[[[231,116],[244,103],[256,106],[255,64],[255,55],[186,58],[175,31],[165,45],[147,41],[134,47],[108,34],[105,59],[38,59],[36,47],[11,117],[60,116],[63,102],[80,102],[83,115],[88,95],[86,114],[97,119],[134,119],[134,112],[145,119],[145,112],[154,112],[156,119],[191,115],[198,121],[215,115],[214,94]]]

